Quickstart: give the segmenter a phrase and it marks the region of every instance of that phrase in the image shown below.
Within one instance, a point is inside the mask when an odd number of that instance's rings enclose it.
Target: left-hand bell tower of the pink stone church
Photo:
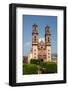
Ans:
[[[38,26],[32,25],[32,57],[38,59]]]

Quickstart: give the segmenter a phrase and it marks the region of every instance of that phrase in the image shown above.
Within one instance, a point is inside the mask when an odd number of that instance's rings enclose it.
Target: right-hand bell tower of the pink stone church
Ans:
[[[51,61],[51,33],[50,27],[47,25],[45,27],[45,47],[46,47],[46,59]]]

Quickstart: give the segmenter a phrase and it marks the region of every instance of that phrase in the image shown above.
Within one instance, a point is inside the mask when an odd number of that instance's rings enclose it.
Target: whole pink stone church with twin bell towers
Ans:
[[[45,27],[44,41],[39,41],[38,25],[32,25],[32,48],[28,55],[28,62],[31,59],[51,61],[51,33],[50,27]]]

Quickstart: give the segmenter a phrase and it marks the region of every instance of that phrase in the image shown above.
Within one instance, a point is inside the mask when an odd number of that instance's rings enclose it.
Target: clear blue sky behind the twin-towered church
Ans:
[[[52,54],[57,54],[57,16],[23,15],[23,53],[28,55],[31,49],[32,25],[38,25],[39,38],[44,38],[45,26],[49,25],[51,32]]]

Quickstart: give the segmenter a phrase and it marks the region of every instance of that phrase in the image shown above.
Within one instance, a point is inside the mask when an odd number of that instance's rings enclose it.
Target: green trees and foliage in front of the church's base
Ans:
[[[57,63],[43,62],[42,60],[31,59],[30,64],[23,65],[23,74],[37,74],[38,66],[44,70],[43,74],[57,73]]]

